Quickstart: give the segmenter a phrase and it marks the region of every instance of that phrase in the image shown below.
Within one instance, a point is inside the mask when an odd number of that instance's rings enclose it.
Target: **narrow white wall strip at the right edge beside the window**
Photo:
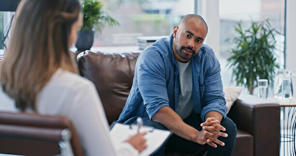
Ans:
[[[286,69],[296,72],[296,0],[287,0],[286,21]],[[293,77],[294,95],[296,94],[296,76]]]

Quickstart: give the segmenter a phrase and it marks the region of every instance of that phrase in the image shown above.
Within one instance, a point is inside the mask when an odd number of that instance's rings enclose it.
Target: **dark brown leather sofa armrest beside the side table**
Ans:
[[[241,129],[254,137],[254,156],[280,154],[280,104],[252,95],[240,95],[228,113]]]

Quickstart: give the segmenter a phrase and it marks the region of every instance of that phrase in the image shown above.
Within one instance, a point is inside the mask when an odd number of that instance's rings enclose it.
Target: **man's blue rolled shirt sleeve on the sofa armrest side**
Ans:
[[[204,81],[203,109],[201,118],[205,121],[205,116],[210,111],[216,111],[226,116],[226,101],[223,93],[221,78],[221,68],[218,59],[211,50],[207,56],[207,67]]]

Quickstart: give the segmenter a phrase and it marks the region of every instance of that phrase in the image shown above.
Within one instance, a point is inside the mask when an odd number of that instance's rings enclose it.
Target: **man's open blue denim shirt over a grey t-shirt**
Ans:
[[[178,66],[172,44],[173,35],[157,40],[138,57],[133,86],[118,122],[133,117],[149,117],[163,106],[174,111],[180,92]],[[202,120],[210,111],[226,116],[225,99],[220,64],[213,50],[202,45],[192,57],[192,101],[195,113],[201,113]]]

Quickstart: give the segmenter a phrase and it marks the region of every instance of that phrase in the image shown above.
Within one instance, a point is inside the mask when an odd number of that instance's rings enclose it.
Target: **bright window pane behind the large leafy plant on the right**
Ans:
[[[236,35],[235,26],[242,22],[243,28],[249,28],[252,21],[269,19],[273,28],[284,34],[285,0],[221,0],[220,1],[220,58],[222,61],[223,84],[230,83],[231,70],[227,70],[226,58],[230,57],[230,49],[234,47],[233,37]],[[236,7],[232,7],[236,6]],[[284,66],[284,36],[276,35],[277,61],[281,68]],[[224,70],[223,70],[224,68]],[[270,91],[269,91],[270,92]]]

